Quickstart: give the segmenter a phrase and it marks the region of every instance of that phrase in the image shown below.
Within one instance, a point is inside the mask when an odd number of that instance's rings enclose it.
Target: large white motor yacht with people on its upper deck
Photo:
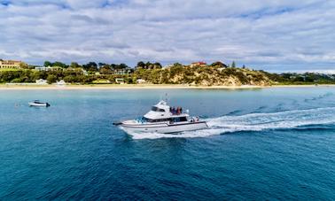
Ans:
[[[156,132],[162,134],[208,128],[206,121],[199,117],[190,117],[181,107],[176,109],[167,105],[166,101],[152,106],[152,110],[136,120],[125,120],[114,123],[130,132]]]

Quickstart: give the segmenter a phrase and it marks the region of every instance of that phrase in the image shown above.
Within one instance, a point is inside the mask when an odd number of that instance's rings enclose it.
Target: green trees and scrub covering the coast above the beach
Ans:
[[[125,83],[136,84],[138,79],[152,84],[187,84],[195,86],[239,86],[239,85],[292,85],[292,84],[335,84],[335,75],[322,73],[268,73],[245,66],[236,67],[235,61],[229,66],[214,62],[208,66],[183,66],[175,63],[163,68],[160,63],[137,63],[135,68],[125,64],[89,62],[80,65],[72,62],[45,61],[50,71],[37,71],[35,66],[22,69],[0,69],[0,83],[33,83],[43,79],[48,83],[64,80],[67,83],[105,84],[116,83],[122,78]]]

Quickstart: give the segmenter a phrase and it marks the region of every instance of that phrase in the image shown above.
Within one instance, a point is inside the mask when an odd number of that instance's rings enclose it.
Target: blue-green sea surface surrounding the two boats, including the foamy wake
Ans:
[[[113,126],[166,93],[210,128]],[[335,200],[335,88],[0,90],[0,200],[31,199]]]

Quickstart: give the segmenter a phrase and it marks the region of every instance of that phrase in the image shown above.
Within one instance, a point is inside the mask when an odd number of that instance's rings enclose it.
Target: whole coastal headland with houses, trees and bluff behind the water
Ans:
[[[140,61],[126,64],[89,62],[69,65],[45,61],[32,66],[22,61],[0,59],[0,83],[4,86],[64,86],[80,89],[81,85],[101,88],[257,88],[267,86],[335,84],[335,75],[325,73],[269,73],[247,66],[221,61],[212,64],[194,62],[162,66],[159,62]]]

